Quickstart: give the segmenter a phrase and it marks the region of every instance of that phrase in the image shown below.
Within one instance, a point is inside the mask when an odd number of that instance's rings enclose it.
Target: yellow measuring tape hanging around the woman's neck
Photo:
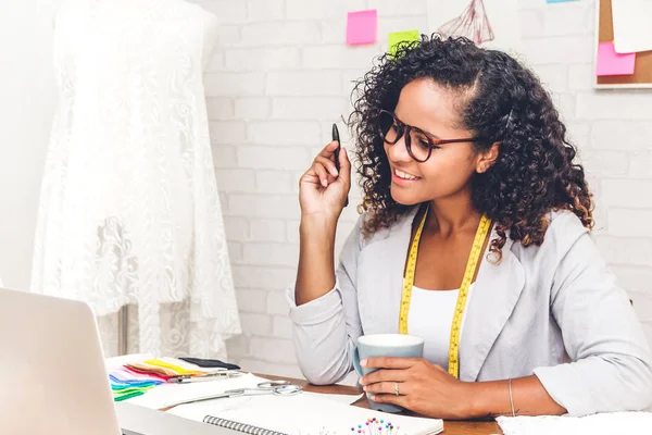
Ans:
[[[408,313],[410,312],[410,300],[412,299],[412,287],[414,286],[414,272],[416,268],[416,256],[418,251],[418,241],[428,216],[428,209],[426,209],[424,216],[422,217],[412,245],[410,246],[410,252],[408,253],[408,268],[405,269],[405,277],[403,279],[403,291],[401,294],[401,311],[399,315],[399,332],[401,334],[408,334]],[[482,215],[471,253],[468,254],[468,261],[466,262],[466,270],[464,271],[464,277],[460,285],[460,293],[457,294],[457,302],[455,303],[455,311],[453,313],[453,324],[451,326],[451,340],[449,347],[449,373],[455,377],[460,374],[460,328],[462,327],[462,316],[464,314],[464,308],[466,307],[466,298],[468,297],[468,287],[473,281],[476,266],[482,253],[482,245],[485,245],[485,238],[491,227],[491,220],[486,215]]]

